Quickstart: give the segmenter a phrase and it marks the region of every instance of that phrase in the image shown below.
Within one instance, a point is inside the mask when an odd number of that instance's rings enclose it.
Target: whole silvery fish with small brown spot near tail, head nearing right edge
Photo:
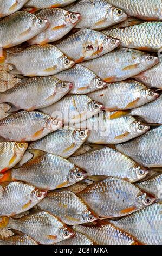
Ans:
[[[106,88],[88,94],[99,100],[107,111],[137,108],[159,97],[158,92],[148,89],[135,80],[108,83]]]

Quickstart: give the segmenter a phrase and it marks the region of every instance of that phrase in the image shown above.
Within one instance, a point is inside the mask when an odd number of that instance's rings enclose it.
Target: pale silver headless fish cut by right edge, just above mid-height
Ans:
[[[162,124],[162,95],[155,101],[131,110],[132,115],[138,115],[148,123]]]

